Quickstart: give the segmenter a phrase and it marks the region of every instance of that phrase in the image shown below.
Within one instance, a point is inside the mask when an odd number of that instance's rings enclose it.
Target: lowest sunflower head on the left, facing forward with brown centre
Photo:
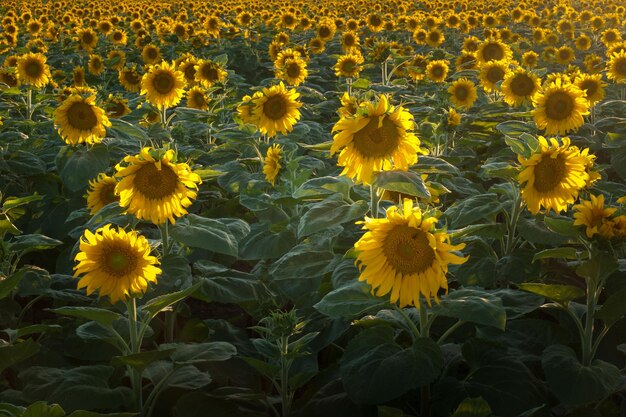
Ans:
[[[156,283],[162,272],[150,249],[148,240],[134,230],[126,232],[110,224],[95,233],[86,229],[74,258],[78,262],[74,277],[83,275],[78,289],[86,287],[87,295],[98,290],[100,297],[108,295],[111,303],[146,292],[148,283]]]

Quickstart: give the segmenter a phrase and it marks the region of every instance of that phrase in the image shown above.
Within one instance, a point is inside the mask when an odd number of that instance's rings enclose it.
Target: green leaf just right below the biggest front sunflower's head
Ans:
[[[433,313],[504,330],[506,310],[499,297],[480,289],[462,288],[441,297]]]

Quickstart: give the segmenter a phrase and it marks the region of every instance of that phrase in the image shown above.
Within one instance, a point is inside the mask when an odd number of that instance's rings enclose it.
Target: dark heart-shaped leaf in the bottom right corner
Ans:
[[[584,366],[567,346],[548,346],[541,363],[550,390],[568,406],[599,401],[619,389],[620,371],[615,365],[594,360]]]

